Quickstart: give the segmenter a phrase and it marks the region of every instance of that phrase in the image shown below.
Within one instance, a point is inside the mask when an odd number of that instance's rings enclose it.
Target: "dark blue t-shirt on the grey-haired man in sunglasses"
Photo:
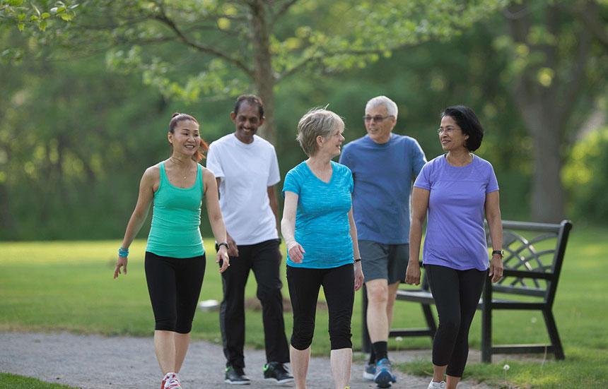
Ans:
[[[414,138],[392,133],[387,143],[369,136],[344,146],[340,163],[353,172],[353,214],[360,240],[409,242],[411,182],[426,158]]]

